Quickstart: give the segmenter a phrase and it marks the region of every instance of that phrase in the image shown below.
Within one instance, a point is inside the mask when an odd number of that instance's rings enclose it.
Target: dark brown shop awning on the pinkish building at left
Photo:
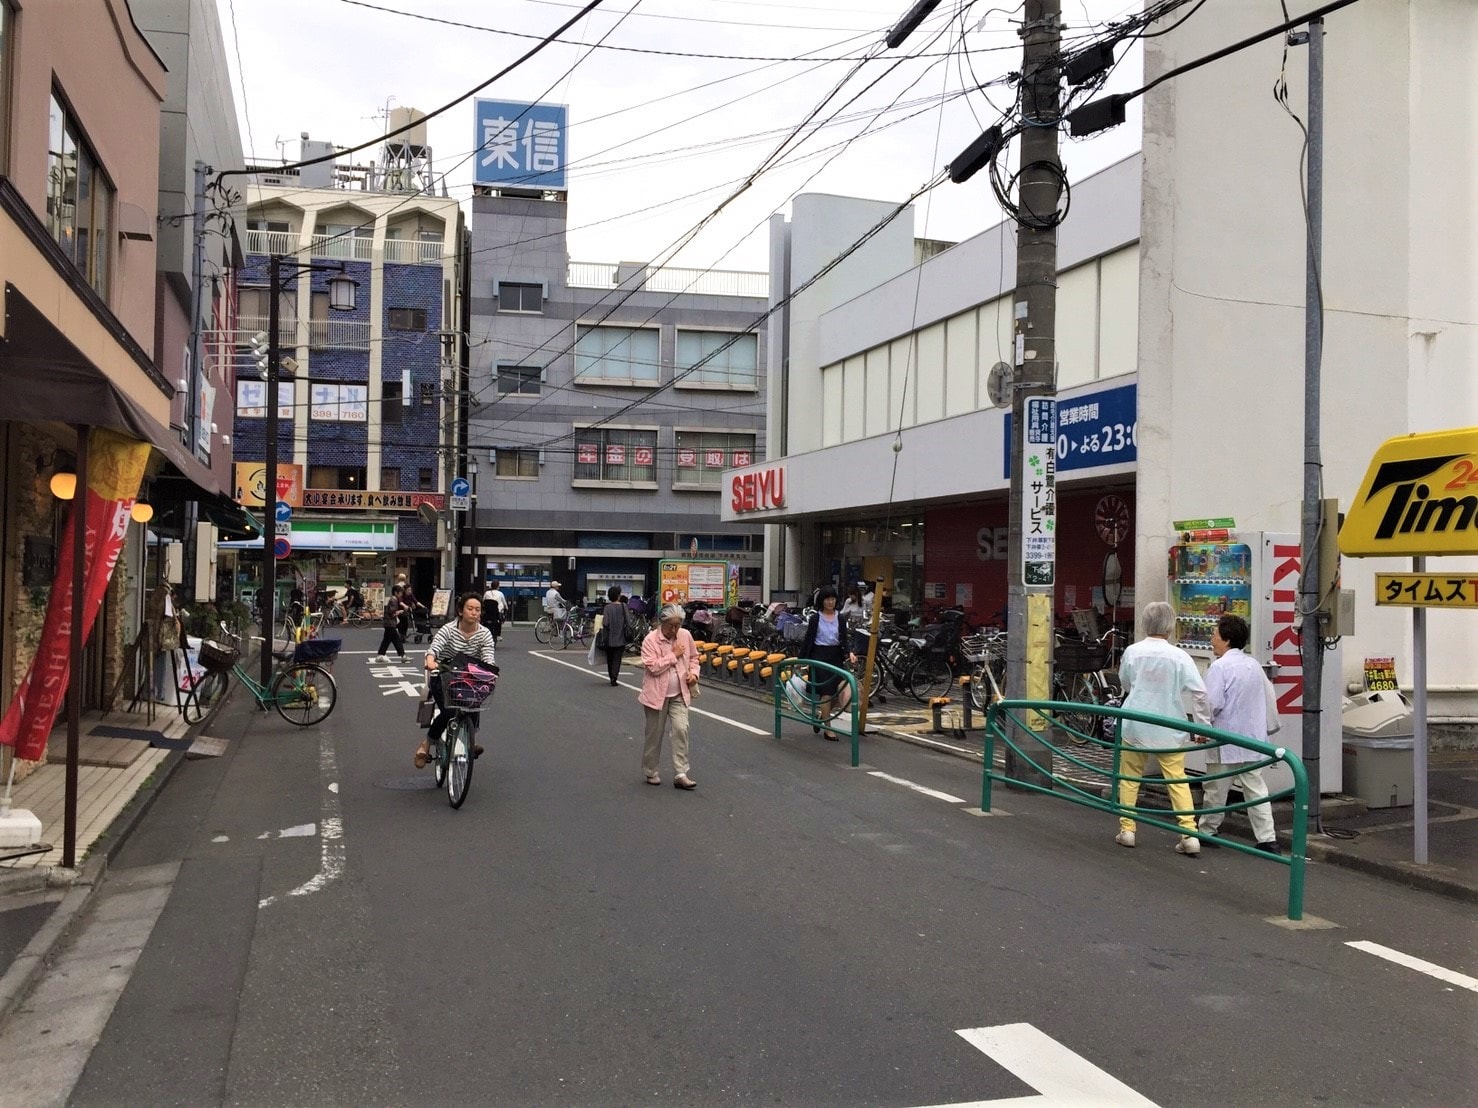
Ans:
[[[154,446],[204,492],[229,492],[177,434],[92,365],[9,282],[4,287],[4,310],[6,331],[0,341],[4,403],[0,405],[0,420],[108,427]]]

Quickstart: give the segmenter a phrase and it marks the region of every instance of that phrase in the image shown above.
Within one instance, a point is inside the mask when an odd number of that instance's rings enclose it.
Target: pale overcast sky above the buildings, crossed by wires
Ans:
[[[242,145],[257,163],[281,164],[297,160],[302,131],[353,146],[383,133],[387,106],[432,111],[461,98],[582,3],[217,6]],[[909,7],[910,0],[605,0],[477,96],[568,105],[572,261],[763,270],[766,223],[773,213],[788,214],[794,195],[903,199],[1011,105],[1014,89],[990,83],[1021,65],[1020,3],[943,0],[900,49],[860,68],[837,61],[879,43]],[[1082,38],[1137,10],[1134,0],[1064,0],[1064,35]],[[1138,46],[1119,55],[1108,89],[1137,89]],[[813,123],[835,118],[792,142],[684,241],[834,90]],[[429,129],[433,170],[470,214],[471,99]],[[1064,136],[1061,155],[1069,177],[1080,180],[1138,146],[1135,100],[1123,126],[1086,140]],[[378,161],[378,151],[355,157],[370,158]],[[919,238],[961,241],[1001,222],[983,173],[964,185],[946,182],[915,208]]]

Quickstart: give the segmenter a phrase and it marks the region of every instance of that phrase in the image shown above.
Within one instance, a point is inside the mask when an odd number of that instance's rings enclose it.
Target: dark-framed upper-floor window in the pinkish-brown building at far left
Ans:
[[[114,188],[55,92],[47,139],[47,229],[87,284],[106,300]]]

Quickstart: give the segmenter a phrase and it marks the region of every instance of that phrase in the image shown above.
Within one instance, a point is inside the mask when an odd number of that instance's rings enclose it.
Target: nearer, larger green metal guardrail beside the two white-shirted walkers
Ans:
[[[1094,718],[1094,727],[1086,731],[1079,731],[1067,724],[1061,722],[1063,715],[1076,715],[1079,718],[1091,715]],[[1029,719],[1046,721],[1048,727],[1042,731],[1035,731],[1027,725]],[[1107,728],[1104,727],[1104,719],[1113,719],[1113,739],[1104,737]],[[1199,736],[1205,742],[1191,742],[1187,746],[1176,746],[1174,749],[1163,750],[1162,753],[1190,753],[1193,750],[1213,750],[1218,746],[1240,746],[1246,750],[1253,750],[1262,755],[1262,761],[1255,762],[1239,762],[1236,768],[1225,770],[1216,774],[1203,774],[1200,777],[1135,777],[1132,774],[1120,773],[1120,758],[1123,755],[1123,721],[1134,719],[1137,722],[1159,724],[1160,727],[1169,727],[1176,731],[1185,731],[1191,736]],[[1110,783],[1110,796],[1113,799],[1104,799],[1075,782],[1069,782],[1064,777],[1052,774],[1048,768],[1042,767],[1039,762],[1032,759],[1032,755],[1018,746],[1011,739],[1011,724],[1023,731],[1032,731],[1036,742],[1046,746],[1055,762],[1057,758],[1064,759],[1070,765],[1085,770],[1092,774],[1100,774]],[[1069,734],[1075,743],[1073,748],[1058,746],[1051,740],[1051,734],[1061,731]],[[1052,779],[1052,787],[1045,784],[1038,784],[1036,782],[1021,780],[1017,777],[1008,777],[995,768],[995,748],[996,742],[1002,742],[1015,752],[1017,758],[1026,765],[1030,765],[1042,777]],[[1058,796],[1064,801],[1072,801],[1073,804],[1080,804],[1086,808],[1097,808],[1098,811],[1111,813],[1119,817],[1128,817],[1147,823],[1151,827],[1162,827],[1165,830],[1175,832],[1176,835],[1188,835],[1194,839],[1208,841],[1210,836],[1196,832],[1188,832],[1178,823],[1172,823],[1176,815],[1205,815],[1208,813],[1228,813],[1228,811],[1244,811],[1253,804],[1262,804],[1262,801],[1247,801],[1243,799],[1240,804],[1225,804],[1219,808],[1193,808],[1191,811],[1182,811],[1179,808],[1172,808],[1168,813],[1160,813],[1160,810],[1147,811],[1140,807],[1126,807],[1119,804],[1119,783],[1120,782],[1138,782],[1141,789],[1147,782],[1157,782],[1163,784],[1191,784],[1196,782],[1212,782],[1222,777],[1236,777],[1247,770],[1262,770],[1276,762],[1284,762],[1289,771],[1293,774],[1293,786],[1290,789],[1283,789],[1276,793],[1268,793],[1267,801],[1284,801],[1292,798],[1293,801],[1293,826],[1292,844],[1287,854],[1268,854],[1259,851],[1256,847],[1250,847],[1240,842],[1233,842],[1230,839],[1216,838],[1218,845],[1228,849],[1237,849],[1243,854],[1250,854],[1256,858],[1265,858],[1267,861],[1280,863],[1289,867],[1289,919],[1304,919],[1304,866],[1305,866],[1305,849],[1308,836],[1308,773],[1304,770],[1302,759],[1284,746],[1274,746],[1273,743],[1259,742],[1256,739],[1249,739],[1244,734],[1233,734],[1231,731],[1221,731],[1215,727],[1208,727],[1205,724],[1197,724],[1190,719],[1175,719],[1163,715],[1150,715],[1147,712],[1135,712],[1128,708],[1111,708],[1108,705],[1089,705],[1076,702],[1061,702],[1061,700],[996,700],[990,705],[986,712],[986,749],[984,749],[984,776],[980,789],[980,808],[981,811],[990,811],[990,784],[992,782],[1001,782],[1017,789],[1029,789],[1032,792],[1046,793],[1048,796]],[[1104,770],[1101,765],[1086,761],[1080,753],[1075,750],[1083,750],[1085,748],[1100,748],[1103,750],[1111,750],[1113,767]],[[1138,749],[1138,748],[1131,748]],[[1151,752],[1154,753],[1154,752]],[[1168,815],[1166,818],[1159,818],[1156,813]]]

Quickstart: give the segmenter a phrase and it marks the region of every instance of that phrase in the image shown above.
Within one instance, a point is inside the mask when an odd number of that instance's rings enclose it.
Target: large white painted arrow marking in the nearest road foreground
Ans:
[[[1032,1024],[973,1027],[956,1031],[961,1039],[983,1050],[987,1058],[1036,1089],[1036,1096],[1008,1096],[999,1101],[970,1101],[937,1108],[992,1108],[993,1105],[1110,1105],[1111,1108],[1156,1108],[1117,1077],[1104,1073]]]

